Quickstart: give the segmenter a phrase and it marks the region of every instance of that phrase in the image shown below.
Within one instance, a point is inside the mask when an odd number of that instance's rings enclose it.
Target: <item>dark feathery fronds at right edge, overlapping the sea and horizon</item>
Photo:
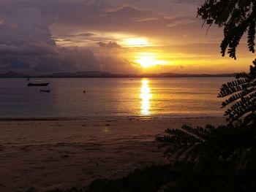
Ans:
[[[238,120],[244,124],[255,123],[256,120],[256,59],[250,66],[250,72],[237,74],[236,79],[227,82],[220,88],[219,97],[227,97],[222,103],[222,108],[230,106],[225,111],[227,121],[230,123]]]

